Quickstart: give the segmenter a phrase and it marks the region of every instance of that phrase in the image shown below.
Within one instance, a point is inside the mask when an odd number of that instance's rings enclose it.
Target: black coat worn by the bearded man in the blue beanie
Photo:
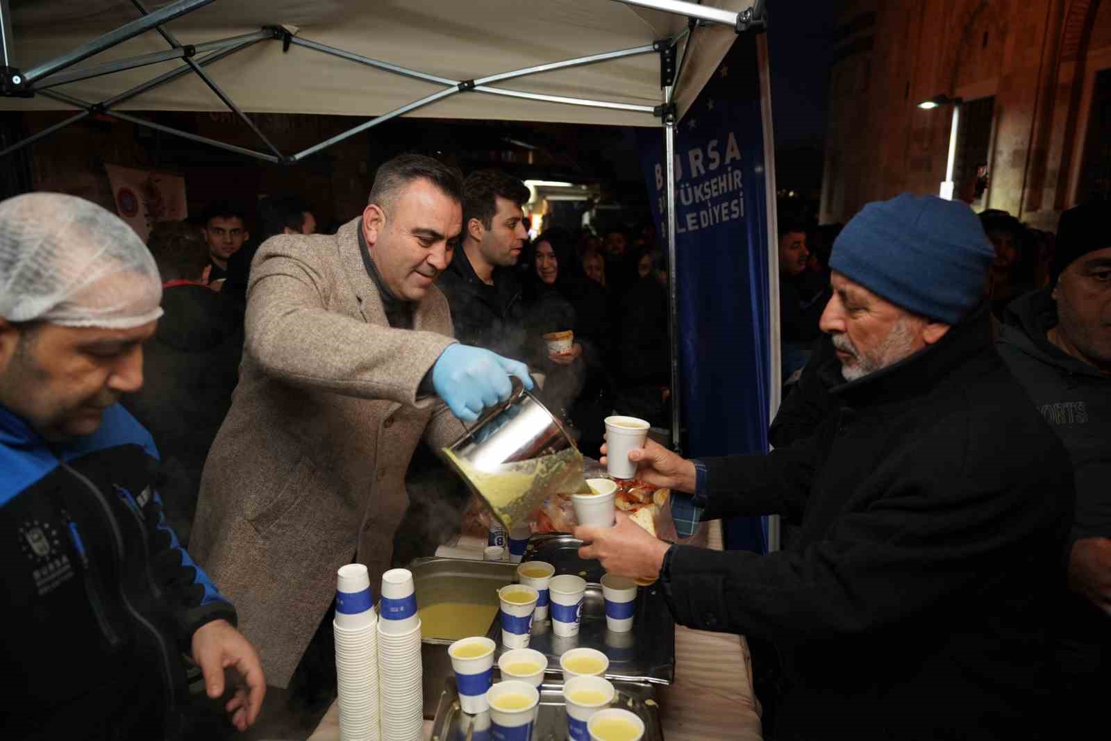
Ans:
[[[832,394],[814,438],[704,461],[707,517],[802,529],[763,557],[678,547],[677,621],[775,642],[777,739],[1039,738],[1072,471],[987,312]]]

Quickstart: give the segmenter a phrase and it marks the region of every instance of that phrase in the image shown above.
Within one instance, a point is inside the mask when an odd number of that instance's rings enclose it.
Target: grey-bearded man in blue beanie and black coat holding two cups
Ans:
[[[867,206],[833,247],[822,372],[841,382],[814,437],[768,455],[630,453],[703,517],[800,521],[790,551],[669,545],[621,513],[575,531],[607,571],[658,575],[678,622],[774,641],[777,739],[1043,734],[1073,481],[977,309],[992,254],[961,203]]]

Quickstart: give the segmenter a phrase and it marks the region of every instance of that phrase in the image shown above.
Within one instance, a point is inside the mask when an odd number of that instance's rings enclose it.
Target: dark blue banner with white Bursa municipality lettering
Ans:
[[[698,43],[695,38],[694,43]],[[667,236],[664,142],[641,129],[657,233]],[[770,342],[768,198],[760,61],[739,36],[675,124],[680,404],[688,457],[765,453]],[[727,524],[727,547],[765,551],[758,518]]]

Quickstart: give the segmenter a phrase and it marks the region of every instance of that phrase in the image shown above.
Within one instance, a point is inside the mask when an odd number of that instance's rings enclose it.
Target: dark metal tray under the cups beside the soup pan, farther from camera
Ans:
[[[574,648],[598,649],[610,660],[605,678],[618,681],[670,684],[675,678],[675,623],[660,592],[660,585],[641,587],[637,594],[633,628],[627,633],[611,633],[605,628],[605,601],[602,598],[602,564],[579,558],[582,541],[565,534],[533,535],[526,561],[547,561],[556,573],[578,574],[587,580],[582,623],[574,638],[552,633],[551,619],[534,621],[529,648],[548,657],[548,673],[562,675],[559,658]],[[501,645],[501,621],[494,618],[487,635]]]

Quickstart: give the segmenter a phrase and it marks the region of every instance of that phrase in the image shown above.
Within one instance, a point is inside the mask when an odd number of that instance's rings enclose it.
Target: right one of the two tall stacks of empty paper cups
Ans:
[[[421,741],[420,618],[413,575],[408,569],[382,574],[378,621],[378,680],[382,739]]]

